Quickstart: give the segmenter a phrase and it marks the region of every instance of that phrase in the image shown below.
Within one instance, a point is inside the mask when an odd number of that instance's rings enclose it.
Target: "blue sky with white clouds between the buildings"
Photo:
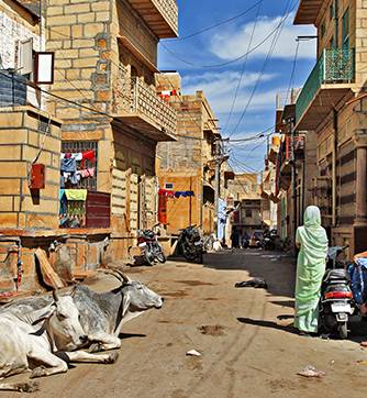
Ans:
[[[267,137],[256,136],[271,132],[277,91],[305,82],[316,62],[316,41],[301,41],[297,47],[296,38],[316,31],[312,25],[293,25],[297,0],[176,2],[179,38],[162,41],[158,68],[181,75],[182,95],[204,91],[222,137],[230,139],[231,168],[259,173]]]

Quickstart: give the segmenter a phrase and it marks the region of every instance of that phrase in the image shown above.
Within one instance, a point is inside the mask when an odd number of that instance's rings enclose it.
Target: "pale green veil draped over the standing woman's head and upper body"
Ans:
[[[320,209],[309,206],[304,211],[304,225],[299,228],[301,250],[304,252],[308,263],[324,261],[327,255],[326,231],[321,226]]]

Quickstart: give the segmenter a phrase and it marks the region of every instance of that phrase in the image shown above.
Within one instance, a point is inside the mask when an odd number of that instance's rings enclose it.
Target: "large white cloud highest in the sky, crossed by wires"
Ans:
[[[294,13],[289,14],[285,22],[277,41],[276,47],[273,53],[273,57],[291,59],[294,57],[296,52],[296,38],[297,36],[315,35],[315,29],[309,25],[293,25]],[[255,34],[252,41],[251,48],[259,45],[276,27],[281,23],[281,16],[274,19],[267,16],[260,16],[256,24]],[[222,30],[221,33],[215,34],[212,37],[210,49],[213,54],[221,59],[234,59],[247,52],[249,38],[254,27],[254,22],[248,22],[237,29],[230,27],[230,30]],[[273,40],[276,33],[274,33],[264,44],[252,52],[248,59],[264,57],[268,54]],[[315,58],[316,40],[310,40],[307,42],[300,42],[298,58]]]

